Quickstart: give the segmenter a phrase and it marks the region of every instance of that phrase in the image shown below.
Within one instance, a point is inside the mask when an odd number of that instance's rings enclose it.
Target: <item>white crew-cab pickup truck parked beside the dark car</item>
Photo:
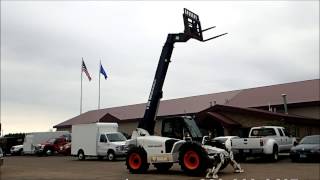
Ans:
[[[249,138],[234,138],[231,148],[235,156],[245,160],[249,156],[270,156],[277,161],[280,152],[289,152],[296,144],[296,138],[289,137],[280,126],[253,127]]]

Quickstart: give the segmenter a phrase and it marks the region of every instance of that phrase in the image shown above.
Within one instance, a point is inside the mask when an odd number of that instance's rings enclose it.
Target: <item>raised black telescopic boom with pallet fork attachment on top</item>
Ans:
[[[205,42],[205,41],[209,41],[227,34],[227,33],[224,33],[224,34],[220,34],[212,38],[203,40],[202,32],[212,29],[214,27],[210,27],[205,30],[202,30],[199,16],[189,11],[186,8],[184,8],[183,20],[184,20],[184,32],[176,33],[176,34],[168,34],[167,36],[167,40],[162,48],[157,71],[154,76],[151,92],[146,105],[145,113],[143,118],[139,121],[139,124],[138,124],[138,128],[147,130],[150,135],[154,134],[156,115],[159,108],[160,99],[162,98],[162,94],[163,94],[162,87],[167,75],[167,70],[169,67],[172,51],[174,48],[174,43],[187,42],[191,38]]]

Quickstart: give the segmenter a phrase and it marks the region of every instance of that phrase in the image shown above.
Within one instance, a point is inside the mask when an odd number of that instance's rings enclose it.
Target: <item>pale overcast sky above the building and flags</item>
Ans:
[[[163,99],[319,78],[319,1],[1,1],[3,134],[145,103],[168,33],[197,13],[208,42],[176,43]]]

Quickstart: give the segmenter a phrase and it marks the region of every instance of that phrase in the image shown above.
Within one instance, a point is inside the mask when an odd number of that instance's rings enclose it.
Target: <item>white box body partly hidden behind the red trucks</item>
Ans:
[[[63,135],[70,134],[69,131],[55,131],[55,132],[33,132],[26,134],[23,142],[23,154],[35,154],[36,147],[39,144]]]

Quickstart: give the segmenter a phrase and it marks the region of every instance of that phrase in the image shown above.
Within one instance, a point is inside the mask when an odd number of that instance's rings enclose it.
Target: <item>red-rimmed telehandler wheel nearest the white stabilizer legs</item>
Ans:
[[[182,145],[179,153],[181,169],[188,175],[204,175],[210,161],[207,152],[195,142],[186,142]]]

